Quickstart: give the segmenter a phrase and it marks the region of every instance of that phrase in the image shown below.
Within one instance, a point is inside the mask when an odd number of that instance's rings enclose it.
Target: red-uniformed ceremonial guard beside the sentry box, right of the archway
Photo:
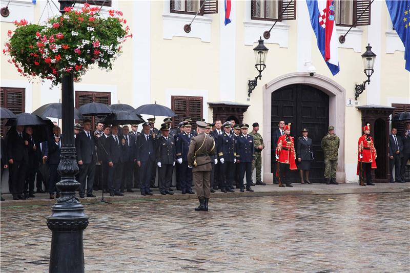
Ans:
[[[370,124],[367,123],[366,126],[363,127],[363,135],[359,138],[358,142],[359,153],[357,157],[357,175],[359,175],[360,181],[363,180],[364,184],[364,177],[366,177],[366,184],[372,185],[372,169],[377,169],[376,166],[376,149],[373,142],[373,138],[370,136]]]

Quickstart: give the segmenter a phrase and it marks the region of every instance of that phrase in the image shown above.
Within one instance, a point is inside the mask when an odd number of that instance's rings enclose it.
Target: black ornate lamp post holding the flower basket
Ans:
[[[59,0],[60,12],[75,1]],[[75,180],[78,165],[74,146],[74,80],[73,74],[61,80],[61,104],[64,135],[61,137],[58,173],[61,181],[56,184],[61,197],[47,217],[47,226],[52,231],[49,272],[84,272],[83,230],[88,225],[84,206],[75,197],[80,183]]]

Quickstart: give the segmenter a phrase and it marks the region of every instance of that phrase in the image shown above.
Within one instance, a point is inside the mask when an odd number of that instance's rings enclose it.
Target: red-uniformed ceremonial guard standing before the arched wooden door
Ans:
[[[291,123],[285,125],[283,133],[276,145],[276,160],[279,162],[276,176],[280,178],[279,186],[284,187],[282,183],[285,183],[287,187],[292,187],[291,182],[286,179],[286,173],[288,170],[297,170],[298,168],[295,162],[295,140],[290,136]]]

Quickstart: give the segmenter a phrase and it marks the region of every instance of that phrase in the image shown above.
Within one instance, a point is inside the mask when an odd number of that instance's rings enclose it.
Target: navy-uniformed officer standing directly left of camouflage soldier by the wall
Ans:
[[[255,147],[253,136],[248,135],[249,125],[242,123],[240,125],[241,134],[236,138],[236,160],[239,162],[239,184],[240,191],[243,190],[243,178],[246,173],[247,177],[247,191],[253,192],[251,188],[252,179],[252,161],[255,160]]]

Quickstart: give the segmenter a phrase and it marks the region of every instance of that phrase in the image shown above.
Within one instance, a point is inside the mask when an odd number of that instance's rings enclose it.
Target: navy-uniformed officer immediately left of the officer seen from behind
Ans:
[[[188,167],[188,151],[189,143],[191,141],[191,127],[188,122],[183,124],[185,132],[179,134],[175,140],[176,142],[176,158],[178,164],[180,164],[179,182],[182,194],[194,194],[192,191],[192,169]]]

